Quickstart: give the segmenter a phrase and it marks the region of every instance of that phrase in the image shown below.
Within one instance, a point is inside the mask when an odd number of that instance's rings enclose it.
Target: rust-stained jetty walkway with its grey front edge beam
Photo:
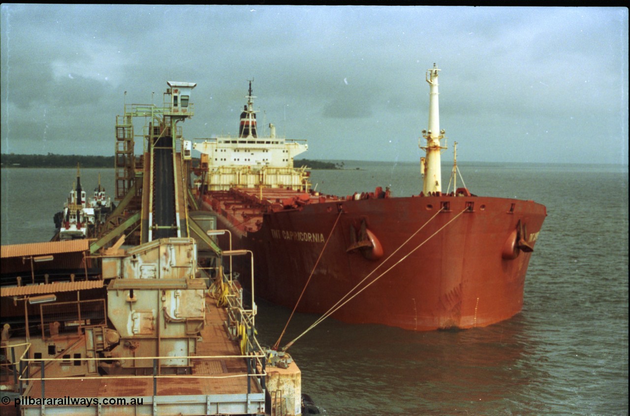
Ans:
[[[205,305],[206,325],[200,333],[202,342],[191,357],[192,374],[55,377],[45,378],[43,382],[37,375],[22,395],[25,402],[21,404],[23,416],[264,413],[265,393],[261,383],[264,385],[265,374],[261,371],[260,361],[264,360],[264,355],[249,355],[247,359],[255,360],[255,364],[248,371],[238,342],[226,332],[224,323],[229,321],[228,309],[217,307],[214,299],[209,297]],[[38,368],[38,362],[27,359],[21,360],[23,367],[26,362],[30,362],[33,371]],[[28,377],[23,379],[28,381]],[[55,405],[45,405],[42,411],[42,399],[49,403],[54,400]],[[71,404],[71,400],[81,404]],[[95,403],[95,400],[98,405],[86,405]]]

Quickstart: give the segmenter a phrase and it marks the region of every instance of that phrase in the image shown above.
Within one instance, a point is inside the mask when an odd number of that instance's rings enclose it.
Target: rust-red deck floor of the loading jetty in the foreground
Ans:
[[[42,382],[31,381],[23,396],[31,398],[145,398],[144,405],[153,407],[155,400],[161,410],[159,415],[179,414],[222,414],[222,413],[262,413],[265,405],[264,391],[254,379],[249,385],[247,365],[240,357],[238,340],[232,341],[227,334],[224,321],[227,320],[225,308],[216,306],[215,300],[206,298],[205,326],[201,332],[197,352],[199,357],[212,355],[217,358],[192,359],[192,374],[178,376],[156,376],[157,388],[154,395],[153,376],[112,376],[84,378],[64,378],[45,380],[44,394]],[[230,356],[234,356],[231,358]],[[179,402],[179,407],[176,405]],[[52,408],[62,410],[63,406],[46,406],[49,413]],[[177,410],[172,413],[171,408]],[[40,406],[23,406],[23,415],[39,415]],[[188,409],[188,410],[186,410]],[[101,406],[100,415],[118,414],[123,409],[117,406],[108,410]],[[69,407],[67,414],[94,414],[79,407]],[[147,410],[149,412],[149,410]],[[156,414],[151,411],[137,414]],[[57,413],[57,412],[55,412]],[[66,413],[64,413],[66,414]]]

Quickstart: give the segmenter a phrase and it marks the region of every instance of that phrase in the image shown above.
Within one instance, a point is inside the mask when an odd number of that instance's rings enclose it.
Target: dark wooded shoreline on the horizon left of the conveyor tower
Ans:
[[[78,154],[0,154],[3,168],[113,168],[113,156],[81,156]]]

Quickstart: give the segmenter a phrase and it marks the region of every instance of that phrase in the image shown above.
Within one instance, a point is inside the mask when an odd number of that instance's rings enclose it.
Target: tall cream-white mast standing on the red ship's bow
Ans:
[[[427,69],[427,83],[429,90],[429,127],[422,130],[422,136],[427,139],[427,146],[420,147],[427,152],[427,158],[421,159],[421,171],[424,185],[422,192],[430,195],[432,192],[442,192],[442,171],[440,166],[440,153],[446,147],[440,146],[440,139],[444,139],[444,130],[440,130],[440,104],[438,101],[438,71],[440,69],[433,64],[433,69]]]

